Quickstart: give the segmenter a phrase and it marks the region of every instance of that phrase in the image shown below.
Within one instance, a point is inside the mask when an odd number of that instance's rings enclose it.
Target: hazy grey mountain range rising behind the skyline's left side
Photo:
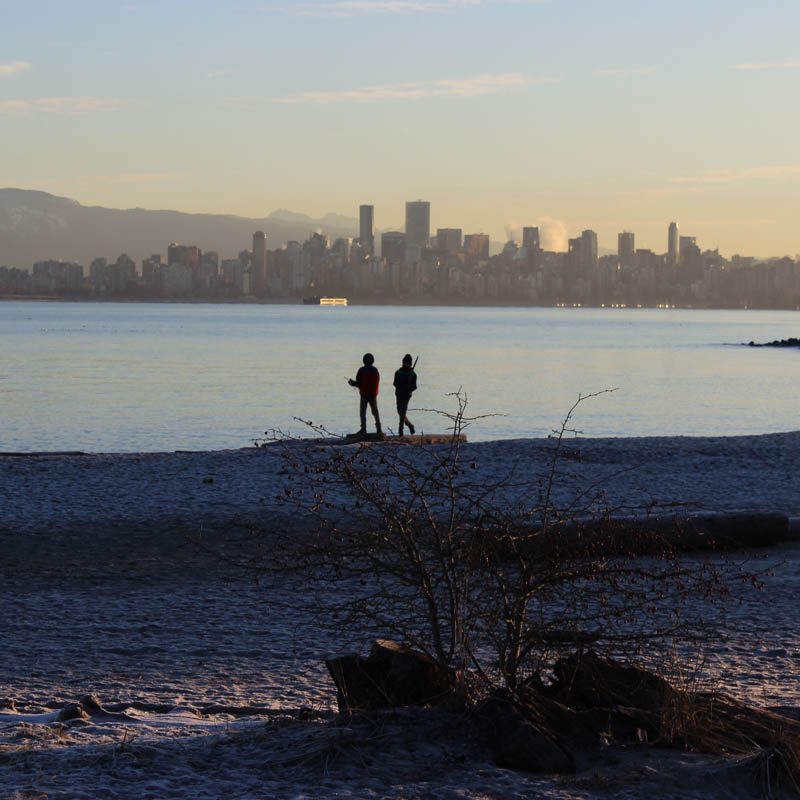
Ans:
[[[50,258],[88,266],[98,256],[116,260],[121,253],[139,262],[153,253],[166,256],[172,242],[235,258],[252,247],[256,231],[264,231],[267,247],[275,249],[287,241],[302,242],[319,229],[332,239],[358,236],[358,220],[339,214],[313,219],[284,209],[263,219],[123,210],[82,206],[47,192],[0,189],[0,266],[30,269],[34,262]]]

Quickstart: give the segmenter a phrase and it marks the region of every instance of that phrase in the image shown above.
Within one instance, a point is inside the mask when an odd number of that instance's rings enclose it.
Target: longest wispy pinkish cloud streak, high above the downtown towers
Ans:
[[[498,94],[533,84],[554,83],[555,78],[529,78],[518,72],[504,75],[478,75],[475,78],[412,81],[335,89],[323,92],[298,92],[279,97],[276,103],[375,103],[382,100],[421,100],[427,97],[478,97]]]

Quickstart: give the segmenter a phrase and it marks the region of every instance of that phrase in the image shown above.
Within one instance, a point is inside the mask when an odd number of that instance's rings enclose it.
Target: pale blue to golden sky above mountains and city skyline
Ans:
[[[0,186],[800,252],[797,0],[0,0]]]

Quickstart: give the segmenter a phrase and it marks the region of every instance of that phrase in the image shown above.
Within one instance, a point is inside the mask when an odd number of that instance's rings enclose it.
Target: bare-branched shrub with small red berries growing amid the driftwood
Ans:
[[[594,396],[578,398],[535,472],[512,463],[490,482],[462,442],[477,418],[460,391],[455,410],[439,412],[445,444],[332,445],[311,423],[317,441],[275,437],[267,446],[283,448],[282,496],[313,524],[266,546],[251,531],[262,551],[249,565],[304,581],[321,624],[397,638],[454,680],[471,672],[512,693],[576,647],[650,663],[674,653],[700,632],[702,619],[685,613],[695,600],[755,577],[685,561],[673,532],[648,524],[652,506],[612,507],[601,486],[556,500],[559,480],[579,469],[573,417]],[[622,512],[640,524],[620,525]]]

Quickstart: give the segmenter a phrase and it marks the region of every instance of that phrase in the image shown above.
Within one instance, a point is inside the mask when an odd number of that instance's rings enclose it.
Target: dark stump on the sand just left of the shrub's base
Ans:
[[[435,703],[452,687],[429,656],[388,640],[378,640],[368,658],[349,654],[325,660],[336,684],[340,711]]]

